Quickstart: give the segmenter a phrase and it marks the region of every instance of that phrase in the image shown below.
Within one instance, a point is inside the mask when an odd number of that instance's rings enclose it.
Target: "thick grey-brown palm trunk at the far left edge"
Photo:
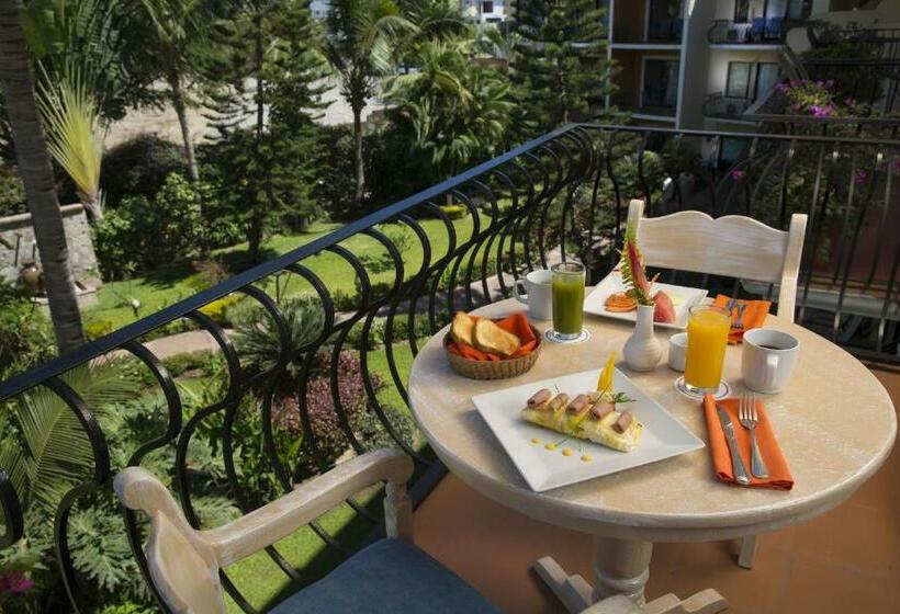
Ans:
[[[34,235],[41,250],[56,344],[61,354],[83,343],[85,333],[53,167],[34,100],[34,82],[19,9],[19,0],[0,0],[0,86],[5,96],[19,174],[25,184]]]

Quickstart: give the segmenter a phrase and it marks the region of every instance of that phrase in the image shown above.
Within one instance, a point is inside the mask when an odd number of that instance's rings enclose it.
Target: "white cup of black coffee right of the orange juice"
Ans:
[[[780,330],[755,328],[744,333],[741,374],[744,385],[763,394],[779,393],[800,353],[797,338]]]

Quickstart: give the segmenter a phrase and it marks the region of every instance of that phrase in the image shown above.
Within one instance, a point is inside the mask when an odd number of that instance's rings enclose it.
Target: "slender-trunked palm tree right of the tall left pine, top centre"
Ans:
[[[393,0],[335,0],[328,12],[325,55],[341,81],[340,93],[353,112],[353,204],[365,195],[362,110],[380,77],[391,73],[397,36],[417,27],[401,15]]]

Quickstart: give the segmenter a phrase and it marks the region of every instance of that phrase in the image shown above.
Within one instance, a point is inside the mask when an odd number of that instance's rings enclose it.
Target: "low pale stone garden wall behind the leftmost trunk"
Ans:
[[[60,207],[66,240],[69,245],[69,262],[76,280],[85,276],[97,276],[97,254],[91,241],[91,229],[85,207],[66,205]],[[34,228],[31,214],[0,217],[0,278],[14,281],[19,278],[22,261],[32,258],[41,262],[34,241]]]

